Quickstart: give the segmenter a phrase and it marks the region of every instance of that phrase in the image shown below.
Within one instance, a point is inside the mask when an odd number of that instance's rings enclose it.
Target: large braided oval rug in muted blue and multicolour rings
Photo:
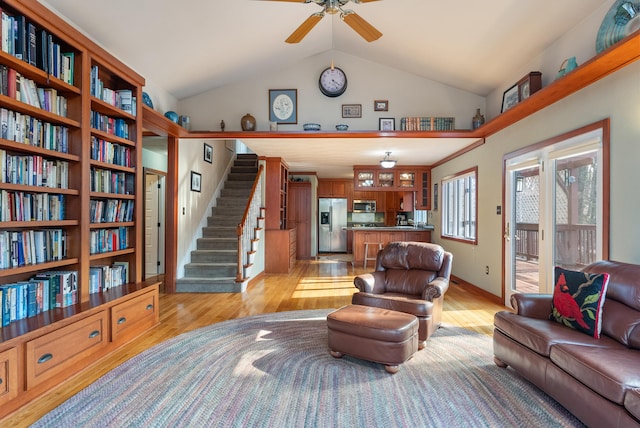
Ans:
[[[212,324],[116,367],[35,427],[572,427],[493,363],[490,337],[443,326],[395,375],[327,347],[331,310]]]

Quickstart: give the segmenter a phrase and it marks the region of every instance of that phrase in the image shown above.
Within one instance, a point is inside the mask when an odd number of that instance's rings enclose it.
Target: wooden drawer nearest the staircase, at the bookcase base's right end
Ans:
[[[158,292],[151,290],[111,308],[111,341],[127,342],[158,323]]]

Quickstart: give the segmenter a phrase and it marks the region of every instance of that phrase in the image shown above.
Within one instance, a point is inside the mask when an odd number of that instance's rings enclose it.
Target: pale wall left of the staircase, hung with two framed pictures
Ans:
[[[204,144],[213,147],[213,163],[204,161]],[[224,185],[224,178],[235,156],[232,144],[225,140],[180,139],[178,143],[178,249],[177,277],[184,276],[196,240],[211,215]],[[201,192],[191,191],[191,171],[202,174]]]

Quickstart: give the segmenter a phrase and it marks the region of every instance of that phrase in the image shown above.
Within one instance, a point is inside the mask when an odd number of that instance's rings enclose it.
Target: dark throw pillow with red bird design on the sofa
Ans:
[[[555,286],[550,319],[600,338],[602,306],[609,274],[555,268]]]

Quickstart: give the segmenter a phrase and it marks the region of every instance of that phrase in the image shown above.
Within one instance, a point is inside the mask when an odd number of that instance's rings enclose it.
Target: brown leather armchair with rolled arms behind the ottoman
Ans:
[[[375,272],[358,275],[354,305],[415,315],[418,348],[440,327],[453,255],[427,242],[391,242],[378,252]]]

